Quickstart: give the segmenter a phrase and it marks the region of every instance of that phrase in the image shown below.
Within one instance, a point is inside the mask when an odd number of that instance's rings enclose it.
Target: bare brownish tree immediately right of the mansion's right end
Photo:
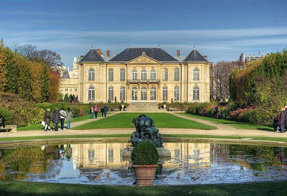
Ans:
[[[229,75],[234,68],[238,68],[238,62],[218,61],[211,67],[210,93],[214,100],[222,100],[229,97]]]

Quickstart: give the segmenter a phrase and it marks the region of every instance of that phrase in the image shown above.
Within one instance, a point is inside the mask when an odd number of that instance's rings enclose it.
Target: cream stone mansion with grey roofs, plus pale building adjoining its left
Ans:
[[[209,102],[210,65],[195,48],[172,57],[161,48],[127,48],[110,57],[91,49],[74,58],[59,90],[91,102]],[[116,100],[115,100],[116,97]]]

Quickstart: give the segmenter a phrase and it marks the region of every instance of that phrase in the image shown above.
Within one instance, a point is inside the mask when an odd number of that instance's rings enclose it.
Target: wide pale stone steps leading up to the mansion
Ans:
[[[127,112],[162,112],[156,102],[131,102],[126,108]]]

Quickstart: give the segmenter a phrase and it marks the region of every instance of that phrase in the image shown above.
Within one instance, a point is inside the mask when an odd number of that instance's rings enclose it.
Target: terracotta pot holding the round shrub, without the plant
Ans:
[[[132,165],[138,186],[152,186],[158,165]]]

